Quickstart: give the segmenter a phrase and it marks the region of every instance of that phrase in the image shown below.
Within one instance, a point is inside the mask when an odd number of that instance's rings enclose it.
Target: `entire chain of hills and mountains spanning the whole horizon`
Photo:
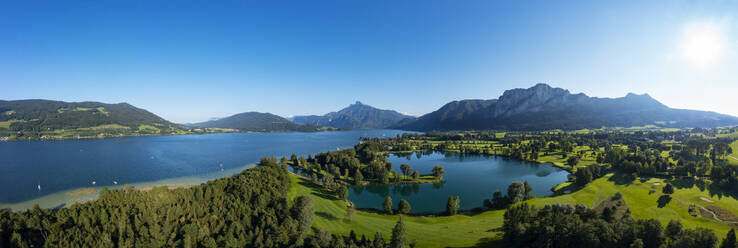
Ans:
[[[528,89],[507,90],[498,99],[453,101],[418,118],[356,102],[325,115],[286,119],[270,113],[245,112],[187,124],[249,132],[311,132],[336,128],[524,131],[646,125],[708,128],[738,125],[738,118],[715,112],[669,108],[648,94],[597,98],[538,84]],[[181,133],[186,127],[127,103],[0,101],[0,138],[63,136],[59,130],[94,134],[87,131],[100,133],[102,129],[119,129],[115,135],[137,135]],[[70,135],[78,134],[69,133],[67,136]]]

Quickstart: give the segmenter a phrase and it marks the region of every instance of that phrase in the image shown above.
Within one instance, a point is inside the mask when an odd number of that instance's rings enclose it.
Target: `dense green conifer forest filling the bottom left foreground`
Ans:
[[[290,185],[276,159],[265,158],[256,168],[188,189],[126,187],[69,208],[0,210],[0,247],[386,246],[381,235],[312,230],[313,200],[289,199]],[[395,239],[403,241],[400,234]]]

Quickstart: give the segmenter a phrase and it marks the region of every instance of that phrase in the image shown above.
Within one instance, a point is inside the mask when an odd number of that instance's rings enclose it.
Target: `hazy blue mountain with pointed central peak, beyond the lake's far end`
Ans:
[[[365,105],[359,101],[348,107],[325,115],[307,115],[292,117],[292,121],[301,124],[329,126],[337,128],[373,129],[387,128],[406,119],[415,117],[403,115],[394,110],[383,110]]]

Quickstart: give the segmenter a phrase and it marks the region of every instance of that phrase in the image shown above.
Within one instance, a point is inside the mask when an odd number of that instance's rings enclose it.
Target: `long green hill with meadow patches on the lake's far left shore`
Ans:
[[[0,100],[0,137],[171,134],[184,128],[128,103]]]

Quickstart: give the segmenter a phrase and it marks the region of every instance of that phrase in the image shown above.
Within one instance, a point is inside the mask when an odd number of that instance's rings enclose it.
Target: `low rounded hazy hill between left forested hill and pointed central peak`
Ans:
[[[321,128],[315,125],[300,125],[270,113],[246,112],[216,120],[194,123],[190,126],[231,128],[244,132],[312,132]]]

